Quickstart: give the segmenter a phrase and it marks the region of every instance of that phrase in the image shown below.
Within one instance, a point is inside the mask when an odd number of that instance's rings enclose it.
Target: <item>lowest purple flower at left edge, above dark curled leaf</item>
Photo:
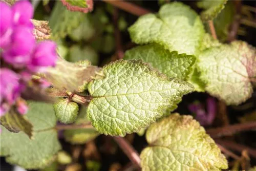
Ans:
[[[0,116],[3,116],[22,91],[19,76],[7,69],[0,69]]]

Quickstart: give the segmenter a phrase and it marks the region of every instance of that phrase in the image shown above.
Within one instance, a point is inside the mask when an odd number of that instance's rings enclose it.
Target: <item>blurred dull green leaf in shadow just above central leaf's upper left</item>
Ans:
[[[92,65],[98,65],[99,56],[95,50],[90,46],[80,47],[74,45],[70,48],[70,58],[71,62],[77,62],[80,60],[89,60]]]

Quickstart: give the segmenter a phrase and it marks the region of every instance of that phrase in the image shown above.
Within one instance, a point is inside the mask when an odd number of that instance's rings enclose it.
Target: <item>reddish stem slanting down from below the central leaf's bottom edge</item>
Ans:
[[[140,168],[140,157],[135,149],[122,137],[113,137],[126,156]]]

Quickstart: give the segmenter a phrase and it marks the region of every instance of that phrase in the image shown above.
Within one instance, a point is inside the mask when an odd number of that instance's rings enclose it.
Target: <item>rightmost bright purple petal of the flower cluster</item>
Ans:
[[[29,69],[34,72],[42,72],[47,67],[54,67],[57,60],[56,44],[53,41],[41,41],[35,47]]]

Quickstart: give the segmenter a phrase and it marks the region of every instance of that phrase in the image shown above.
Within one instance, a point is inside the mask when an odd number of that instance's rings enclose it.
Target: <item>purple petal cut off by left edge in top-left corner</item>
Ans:
[[[0,48],[7,47],[12,33],[12,10],[6,3],[0,2]]]

